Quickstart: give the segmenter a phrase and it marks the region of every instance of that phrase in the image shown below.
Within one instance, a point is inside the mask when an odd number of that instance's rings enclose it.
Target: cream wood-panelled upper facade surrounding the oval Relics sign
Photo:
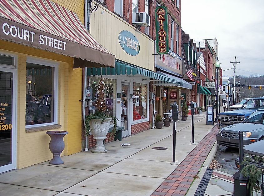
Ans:
[[[104,11],[103,14],[101,12]],[[142,68],[154,70],[153,67],[153,40],[144,33],[135,31],[136,28],[125,22],[122,18],[99,5],[91,14],[90,33],[107,50],[116,55],[116,58]],[[118,35],[121,31],[131,32],[139,41],[140,51],[136,56],[127,54],[119,44]]]

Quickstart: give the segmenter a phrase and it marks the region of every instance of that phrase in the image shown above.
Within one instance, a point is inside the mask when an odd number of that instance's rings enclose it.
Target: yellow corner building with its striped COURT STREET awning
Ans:
[[[61,155],[81,151],[82,68],[114,66],[84,2],[54,2],[0,1],[0,173],[51,159],[46,131],[68,132]]]

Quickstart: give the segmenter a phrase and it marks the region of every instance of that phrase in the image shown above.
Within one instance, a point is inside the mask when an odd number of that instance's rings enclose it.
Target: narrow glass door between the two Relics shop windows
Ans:
[[[121,89],[121,126],[125,127],[122,129],[122,137],[129,135],[128,127],[128,101],[129,101],[129,84],[122,83]]]

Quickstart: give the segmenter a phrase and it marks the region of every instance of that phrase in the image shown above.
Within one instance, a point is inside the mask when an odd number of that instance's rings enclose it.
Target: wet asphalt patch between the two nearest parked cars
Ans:
[[[237,157],[239,157],[238,148],[227,148],[220,145],[215,155],[215,160],[220,163],[221,167],[216,170],[233,175],[239,170],[235,165]]]

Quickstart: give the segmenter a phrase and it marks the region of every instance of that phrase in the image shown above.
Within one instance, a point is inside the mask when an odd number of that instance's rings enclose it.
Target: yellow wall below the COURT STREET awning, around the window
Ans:
[[[82,69],[73,69],[73,58],[28,46],[0,40],[0,50],[12,51],[18,56],[17,68],[17,168],[27,167],[50,160],[50,137],[45,131],[26,133],[26,59],[35,56],[59,61],[58,124],[69,134],[64,137],[64,155],[81,151],[82,133]],[[0,51],[0,52],[1,52]],[[63,155],[63,153],[62,153]]]

